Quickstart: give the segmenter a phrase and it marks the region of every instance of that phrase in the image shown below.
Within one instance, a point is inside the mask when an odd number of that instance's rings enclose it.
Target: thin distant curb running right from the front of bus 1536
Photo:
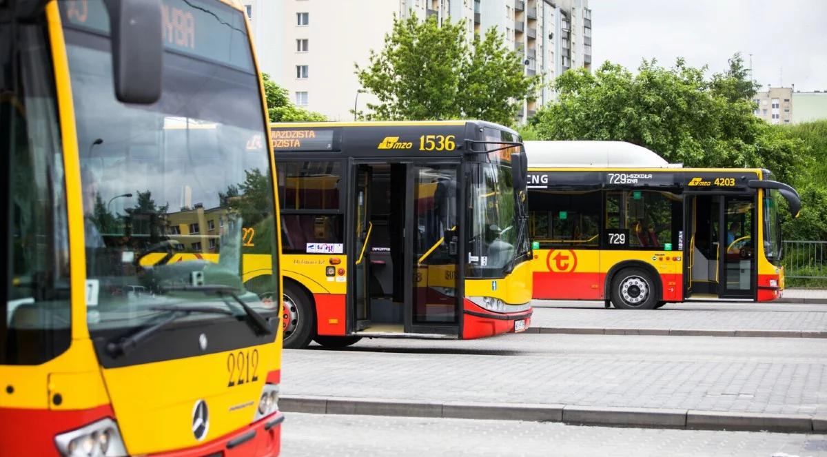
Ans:
[[[598,327],[529,327],[529,334],[643,334],[659,336],[725,336],[756,338],[827,338],[825,330],[692,330],[602,329]]]

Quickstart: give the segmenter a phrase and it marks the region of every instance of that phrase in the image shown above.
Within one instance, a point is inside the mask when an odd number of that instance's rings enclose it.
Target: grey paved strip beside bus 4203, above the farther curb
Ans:
[[[827,305],[778,305],[766,310],[744,310],[744,305],[736,304],[717,305],[715,310],[670,309],[670,305],[660,310],[606,310],[564,307],[571,302],[563,301],[533,303],[532,327],[827,331]]]

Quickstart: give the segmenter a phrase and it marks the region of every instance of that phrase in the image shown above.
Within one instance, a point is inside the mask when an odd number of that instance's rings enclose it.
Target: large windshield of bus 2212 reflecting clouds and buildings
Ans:
[[[241,275],[242,250],[275,254],[265,119],[241,12],[218,1],[164,0],[163,93],[141,106],[117,101],[112,91],[103,2],[60,2],[60,12],[93,338],[122,338],[188,306],[201,311],[185,312],[181,325],[241,320],[236,298],[277,312],[245,290]],[[259,290],[275,293],[277,277],[266,278]]]

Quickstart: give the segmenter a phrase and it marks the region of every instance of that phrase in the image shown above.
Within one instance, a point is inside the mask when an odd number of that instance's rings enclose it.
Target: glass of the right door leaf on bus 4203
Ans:
[[[720,296],[752,298],[755,277],[755,202],[752,195],[723,199]]]

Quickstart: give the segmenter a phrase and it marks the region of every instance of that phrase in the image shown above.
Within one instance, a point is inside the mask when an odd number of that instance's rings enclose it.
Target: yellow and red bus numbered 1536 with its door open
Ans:
[[[525,161],[476,121],[275,123],[284,347],[473,339],[532,309]]]

